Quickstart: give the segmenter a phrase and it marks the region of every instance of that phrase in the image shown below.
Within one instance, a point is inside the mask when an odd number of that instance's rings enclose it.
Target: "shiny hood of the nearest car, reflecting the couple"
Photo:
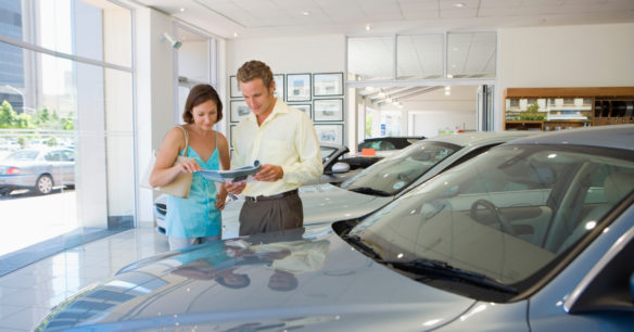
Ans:
[[[272,242],[256,237],[218,241],[145,259],[60,304],[40,328],[408,331],[439,328],[476,303],[375,263],[331,230],[306,233],[304,239],[301,233],[281,234]],[[255,245],[250,250],[257,245],[265,250],[254,257],[228,255],[231,247],[249,244]],[[270,253],[283,250],[289,250],[287,258],[294,264],[276,266],[284,258],[270,259]],[[250,283],[225,286],[214,279],[214,272],[187,273],[191,266],[213,266],[207,270],[215,272],[231,270],[249,276]],[[271,276],[289,266],[294,267],[294,286],[275,290]]]

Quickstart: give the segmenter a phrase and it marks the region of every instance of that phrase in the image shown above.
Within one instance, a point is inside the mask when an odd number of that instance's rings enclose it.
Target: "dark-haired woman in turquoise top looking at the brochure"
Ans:
[[[156,155],[150,176],[152,187],[170,183],[182,173],[193,173],[189,197],[169,195],[167,199],[165,224],[170,250],[220,238],[220,210],[225,207],[227,191],[223,183],[208,181],[195,171],[230,167],[227,139],[213,129],[221,118],[223,102],[216,90],[210,85],[193,87],[182,113],[186,125],[169,130]],[[186,148],[187,156],[192,159],[174,165]]]

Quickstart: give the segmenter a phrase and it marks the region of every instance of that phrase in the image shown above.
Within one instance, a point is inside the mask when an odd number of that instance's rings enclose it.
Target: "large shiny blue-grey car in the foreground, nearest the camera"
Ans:
[[[364,218],[147,258],[39,329],[627,331],[633,136],[515,140]]]

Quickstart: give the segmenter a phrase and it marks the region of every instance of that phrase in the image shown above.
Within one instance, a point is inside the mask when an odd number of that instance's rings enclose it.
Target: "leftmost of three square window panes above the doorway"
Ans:
[[[348,80],[394,79],[394,37],[348,38],[347,73]]]

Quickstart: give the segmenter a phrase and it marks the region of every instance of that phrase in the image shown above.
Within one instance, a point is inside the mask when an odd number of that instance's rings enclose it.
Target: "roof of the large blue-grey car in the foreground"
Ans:
[[[611,125],[554,131],[505,145],[556,144],[613,148],[634,151],[634,125]]]

